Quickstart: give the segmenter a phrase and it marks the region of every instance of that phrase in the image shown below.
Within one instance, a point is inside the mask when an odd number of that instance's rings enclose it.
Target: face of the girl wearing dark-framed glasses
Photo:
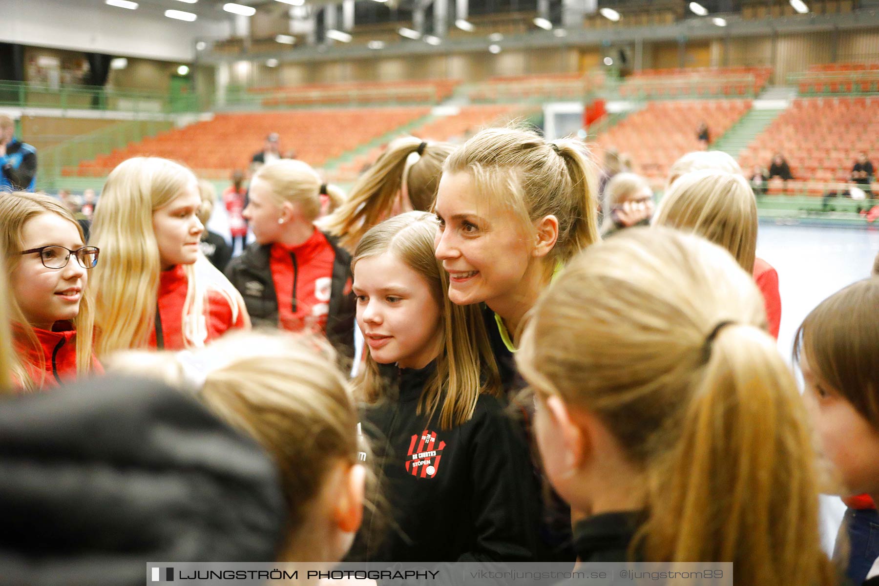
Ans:
[[[43,246],[78,250],[85,246],[79,227],[51,212],[40,213],[25,222],[22,243],[22,250]],[[39,252],[31,252],[22,255],[11,272],[11,289],[28,323],[35,328],[52,329],[54,322],[79,315],[88,280],[88,271],[74,255],[70,255],[64,268],[49,269],[40,260]]]

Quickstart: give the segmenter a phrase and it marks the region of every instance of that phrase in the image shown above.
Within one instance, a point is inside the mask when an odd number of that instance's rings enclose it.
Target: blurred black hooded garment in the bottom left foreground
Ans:
[[[193,398],[82,380],[0,402],[0,584],[128,586],[148,561],[271,561],[272,461]]]

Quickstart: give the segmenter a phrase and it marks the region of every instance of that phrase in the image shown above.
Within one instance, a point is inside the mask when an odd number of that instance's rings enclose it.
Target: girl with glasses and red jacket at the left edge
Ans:
[[[18,360],[11,368],[13,383],[33,390],[101,371],[91,351],[87,289],[98,248],[85,245],[83,230],[66,207],[40,194],[5,193],[0,234]]]

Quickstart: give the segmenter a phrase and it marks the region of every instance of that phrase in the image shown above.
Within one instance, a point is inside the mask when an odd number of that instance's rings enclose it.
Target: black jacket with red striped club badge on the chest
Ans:
[[[450,430],[439,408],[418,415],[434,367],[382,367],[398,398],[367,407],[361,427],[389,510],[367,515],[348,560],[534,561],[541,496],[521,425],[487,394]]]

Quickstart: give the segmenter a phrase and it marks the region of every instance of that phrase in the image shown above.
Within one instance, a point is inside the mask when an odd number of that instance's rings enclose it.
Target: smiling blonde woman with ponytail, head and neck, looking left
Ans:
[[[525,315],[564,263],[598,242],[596,167],[583,142],[489,128],[446,160],[436,256],[458,305],[484,303],[512,360]]]

